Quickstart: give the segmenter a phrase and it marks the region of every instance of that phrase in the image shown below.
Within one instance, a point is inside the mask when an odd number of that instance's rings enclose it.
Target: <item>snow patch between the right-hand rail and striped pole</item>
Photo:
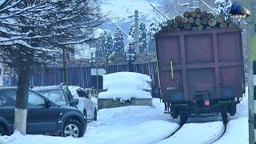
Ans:
[[[214,144],[249,143],[248,118],[242,117],[231,120],[226,127],[226,133]]]

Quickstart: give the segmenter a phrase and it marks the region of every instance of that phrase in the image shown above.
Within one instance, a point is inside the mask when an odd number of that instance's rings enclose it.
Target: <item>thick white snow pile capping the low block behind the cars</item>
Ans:
[[[118,72],[103,76],[103,89],[98,98],[112,98],[121,102],[132,98],[152,98],[149,92],[151,78],[146,74]]]

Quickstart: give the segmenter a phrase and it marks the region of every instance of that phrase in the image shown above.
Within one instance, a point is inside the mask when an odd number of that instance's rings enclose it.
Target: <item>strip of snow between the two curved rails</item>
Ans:
[[[158,143],[206,144],[214,142],[222,134],[223,130],[222,122],[186,123],[172,137]]]

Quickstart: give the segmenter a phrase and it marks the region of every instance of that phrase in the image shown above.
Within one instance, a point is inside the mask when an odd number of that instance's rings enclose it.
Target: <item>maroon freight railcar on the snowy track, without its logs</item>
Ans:
[[[155,37],[167,113],[181,124],[191,114],[221,113],[226,123],[245,93],[241,30],[160,31]]]

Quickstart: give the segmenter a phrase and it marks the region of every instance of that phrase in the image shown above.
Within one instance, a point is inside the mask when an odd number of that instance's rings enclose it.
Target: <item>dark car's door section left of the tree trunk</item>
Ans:
[[[1,90],[0,100],[2,103],[0,116],[10,124],[11,132],[14,130],[14,110],[16,102],[16,90]]]

